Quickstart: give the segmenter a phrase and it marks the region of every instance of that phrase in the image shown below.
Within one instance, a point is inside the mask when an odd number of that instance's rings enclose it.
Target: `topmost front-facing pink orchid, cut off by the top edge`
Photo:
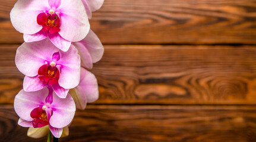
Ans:
[[[49,37],[62,51],[67,51],[71,42],[83,40],[90,30],[81,0],[18,0],[10,16],[14,28],[24,33],[24,41]]]

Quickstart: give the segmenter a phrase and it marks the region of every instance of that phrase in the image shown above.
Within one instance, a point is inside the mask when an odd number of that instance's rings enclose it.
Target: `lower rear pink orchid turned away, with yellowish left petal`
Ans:
[[[99,89],[93,73],[81,68],[79,85],[69,91],[78,109],[85,109],[87,102],[94,102],[99,98]]]

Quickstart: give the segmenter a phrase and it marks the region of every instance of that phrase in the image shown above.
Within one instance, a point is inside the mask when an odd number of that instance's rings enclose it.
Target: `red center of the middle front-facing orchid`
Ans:
[[[59,80],[59,70],[55,66],[44,64],[38,70],[39,79],[45,83],[45,85],[54,85]]]

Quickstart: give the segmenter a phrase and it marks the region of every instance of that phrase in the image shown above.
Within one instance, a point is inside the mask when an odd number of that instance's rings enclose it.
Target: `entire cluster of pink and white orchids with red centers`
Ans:
[[[91,12],[104,0],[18,0],[10,17],[23,33],[15,64],[25,75],[14,99],[18,124],[40,138],[68,135],[76,108],[99,98],[97,79],[87,69],[103,56],[103,45],[90,30]]]

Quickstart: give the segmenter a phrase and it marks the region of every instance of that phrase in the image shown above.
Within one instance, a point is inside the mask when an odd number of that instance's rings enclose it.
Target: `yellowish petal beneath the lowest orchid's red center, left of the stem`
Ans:
[[[30,127],[29,130],[27,130],[27,136],[31,138],[42,138],[45,137],[49,133],[49,125],[46,125],[41,128],[34,128]]]

